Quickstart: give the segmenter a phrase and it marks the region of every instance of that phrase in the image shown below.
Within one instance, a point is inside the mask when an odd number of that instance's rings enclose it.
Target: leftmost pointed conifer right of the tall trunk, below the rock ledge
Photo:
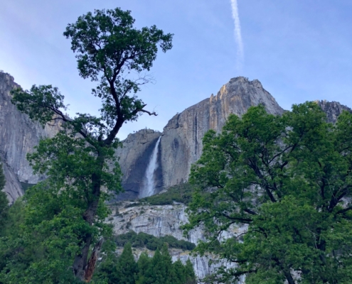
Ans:
[[[117,277],[119,284],[134,284],[138,274],[138,265],[134,261],[131,243],[124,245],[124,251],[117,261]]]

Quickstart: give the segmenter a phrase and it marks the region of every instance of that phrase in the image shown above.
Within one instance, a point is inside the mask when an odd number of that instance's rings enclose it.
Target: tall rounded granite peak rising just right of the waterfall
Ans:
[[[201,157],[206,131],[220,131],[230,114],[241,116],[248,108],[263,104],[270,114],[283,109],[258,80],[236,77],[221,87],[216,96],[176,114],[165,126],[161,138],[161,166],[165,187],[188,179],[191,164]]]

